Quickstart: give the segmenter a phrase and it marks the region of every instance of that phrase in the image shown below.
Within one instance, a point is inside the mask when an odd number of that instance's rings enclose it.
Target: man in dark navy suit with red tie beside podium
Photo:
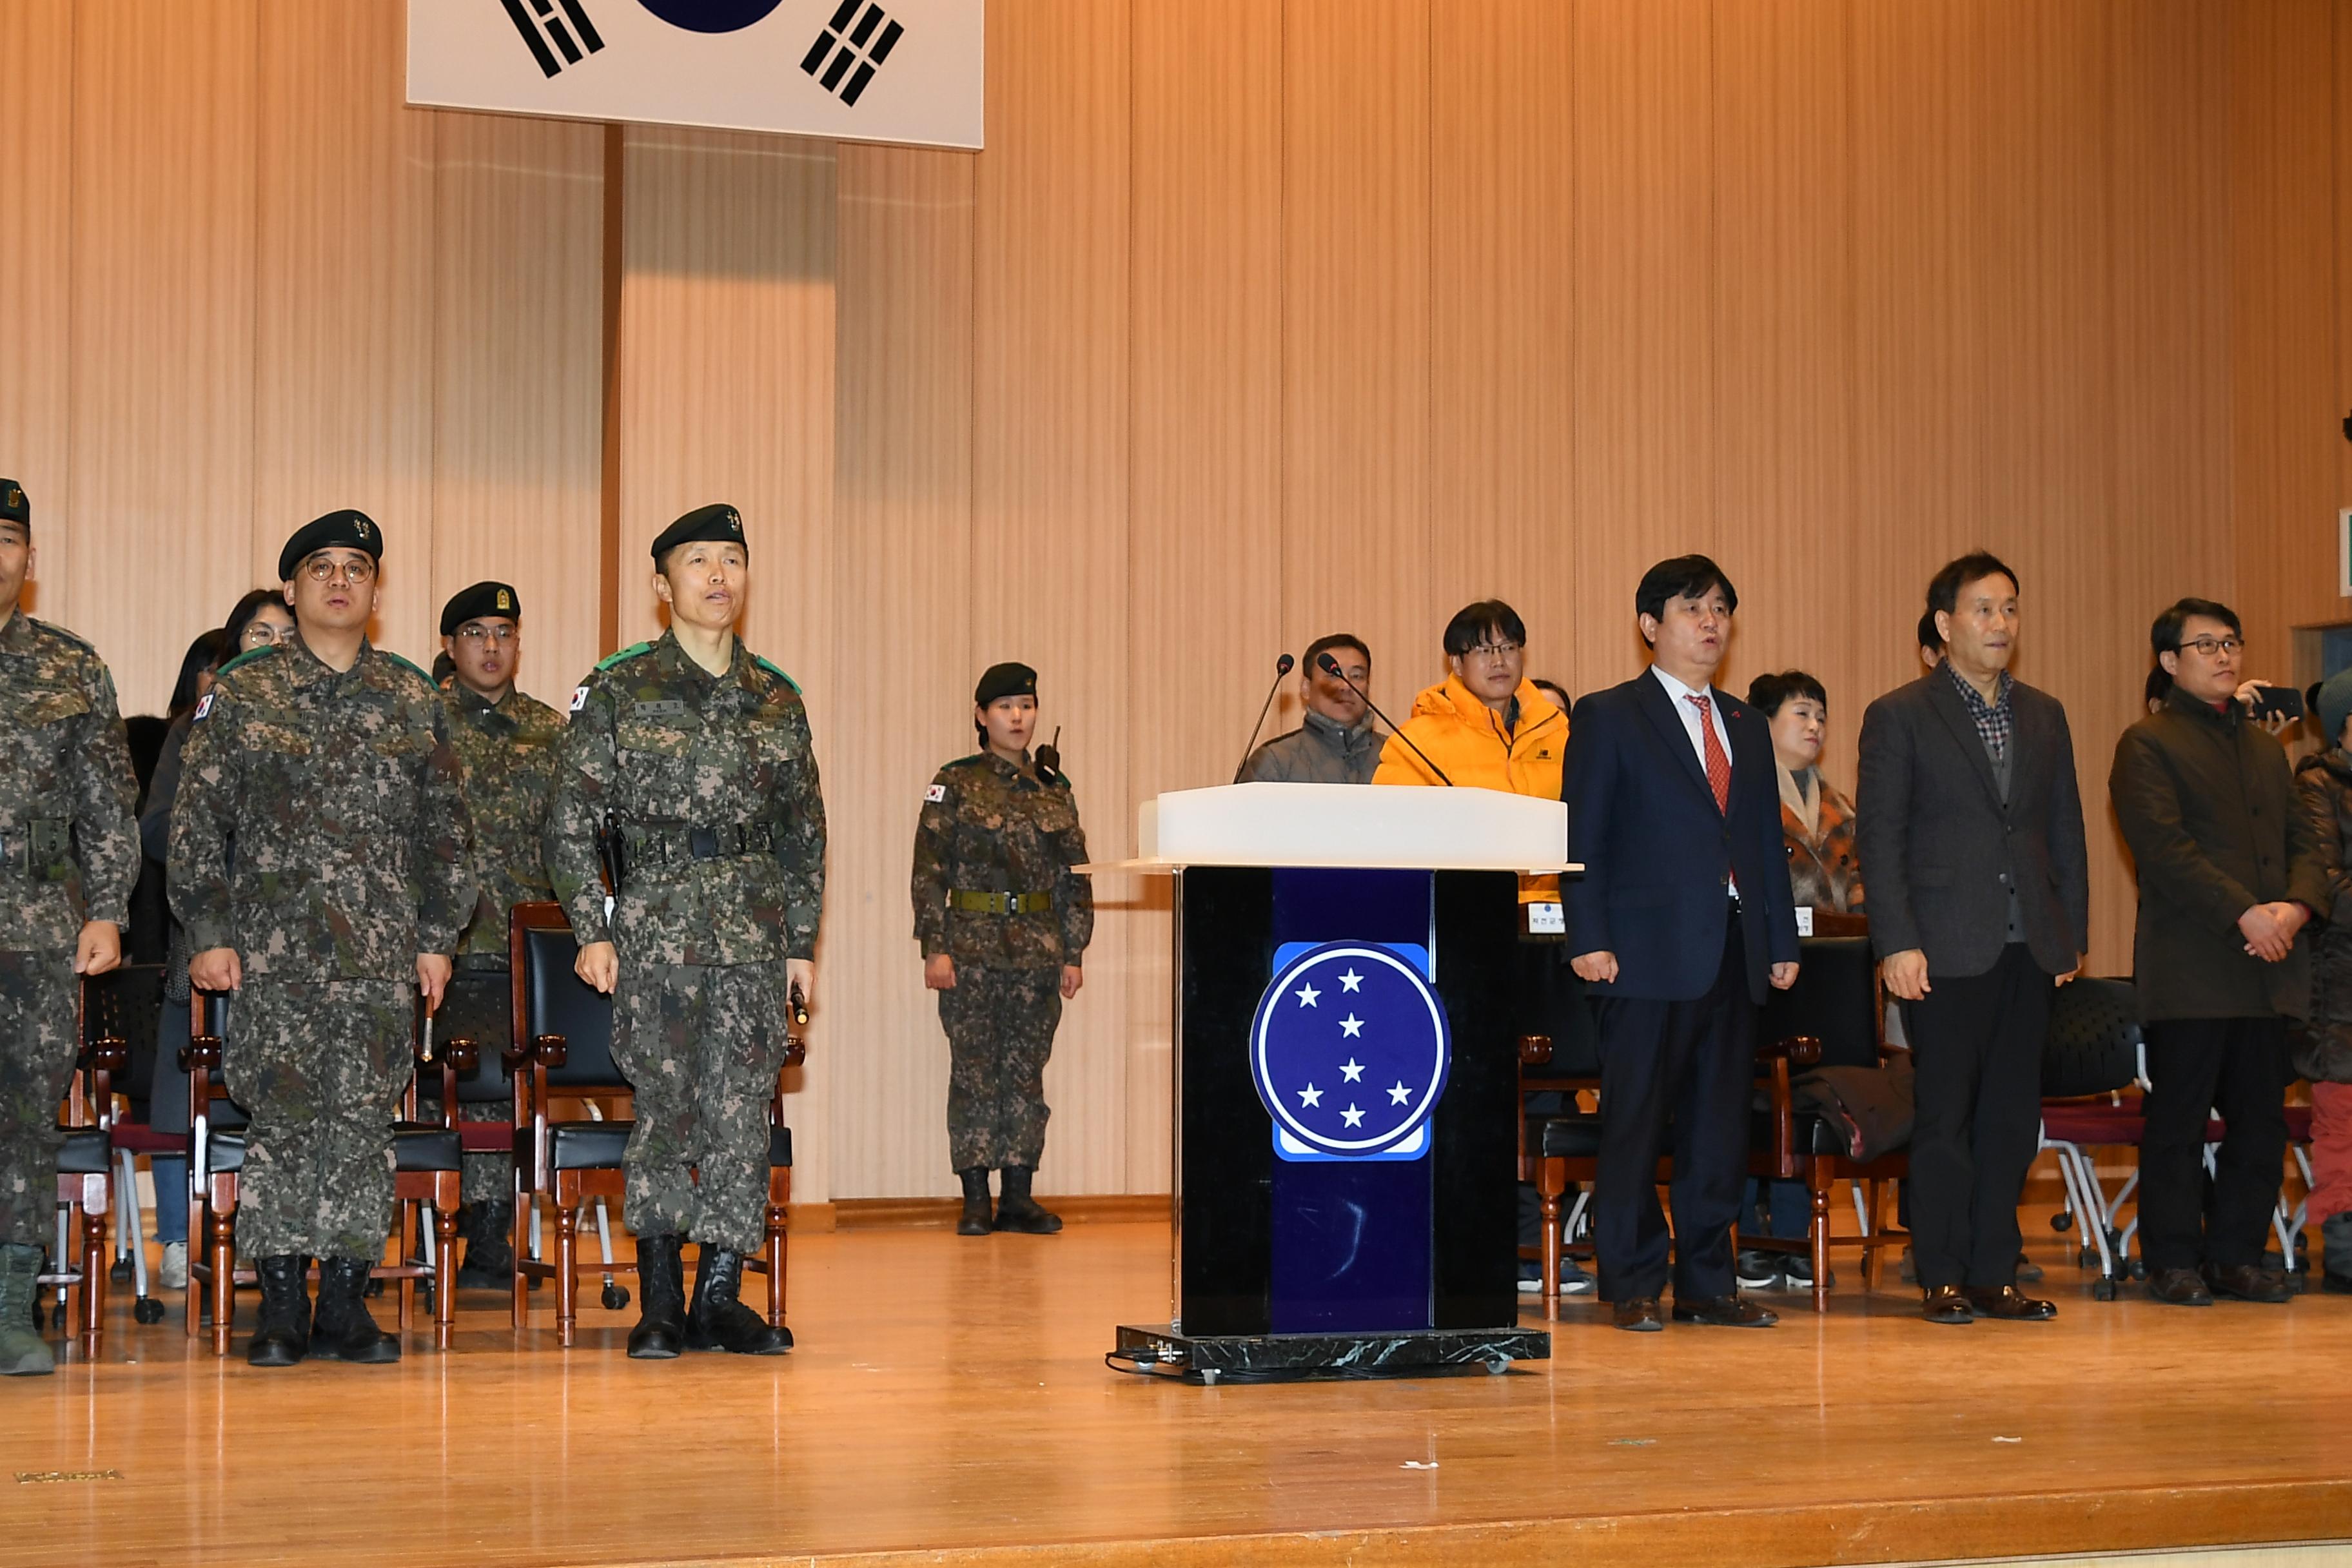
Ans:
[[[1576,705],[1562,799],[1571,966],[1602,1041],[1595,1239],[1616,1326],[1665,1326],[1658,1154],[1675,1128],[1675,1321],[1769,1328],[1740,1300],[1731,1227],[1748,1178],[1748,1100],[1764,985],[1797,980],[1771,731],[1710,682],[1738,609],[1705,555],[1658,562],[1635,592],[1651,665]],[[1872,893],[1875,896],[1875,893]]]

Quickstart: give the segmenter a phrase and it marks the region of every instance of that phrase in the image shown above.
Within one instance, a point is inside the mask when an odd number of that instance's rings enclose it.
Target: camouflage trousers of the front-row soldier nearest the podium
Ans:
[[[767,1103],[783,1067],[783,999],[781,961],[621,959],[612,1060],[628,1074],[637,1119],[621,1204],[640,1237],[734,1253],[767,1244]]]

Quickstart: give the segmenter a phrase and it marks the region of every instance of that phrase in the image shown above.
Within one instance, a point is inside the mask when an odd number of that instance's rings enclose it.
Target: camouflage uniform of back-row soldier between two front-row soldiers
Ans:
[[[555,896],[539,839],[555,799],[555,757],[564,741],[564,715],[539,698],[508,689],[487,703],[463,682],[442,693],[449,710],[449,750],[456,752],[466,818],[473,823],[473,875],[480,884],[473,919],[456,945],[456,976],[433,1020],[435,1039],[466,1034],[482,1046],[482,1067],[496,1077],[496,1053],[513,1032],[513,997],[506,983],[506,912],[517,903]],[[513,1105],[470,1100],[466,1121],[506,1121]],[[513,1154],[466,1154],[466,1201],[496,1201],[513,1187]]]

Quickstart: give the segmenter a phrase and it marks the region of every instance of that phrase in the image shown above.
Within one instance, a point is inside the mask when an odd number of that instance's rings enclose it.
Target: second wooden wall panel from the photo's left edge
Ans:
[[[42,607],[125,712],[162,712],[252,585],[254,26],[254,0],[75,12],[73,520],[42,538]]]

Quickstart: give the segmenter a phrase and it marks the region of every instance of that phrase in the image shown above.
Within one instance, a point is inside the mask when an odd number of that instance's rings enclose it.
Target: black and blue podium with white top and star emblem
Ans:
[[[1249,783],[1145,802],[1174,896],[1174,1312],[1112,1366],[1223,1378],[1505,1371],[1519,1328],[1519,872],[1566,809],[1494,790]]]

